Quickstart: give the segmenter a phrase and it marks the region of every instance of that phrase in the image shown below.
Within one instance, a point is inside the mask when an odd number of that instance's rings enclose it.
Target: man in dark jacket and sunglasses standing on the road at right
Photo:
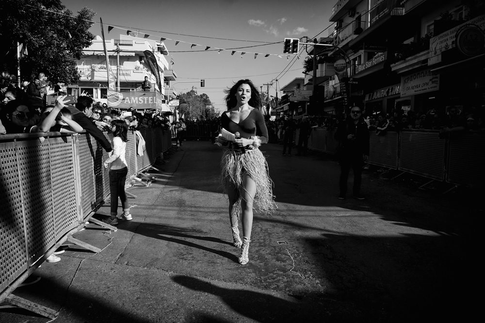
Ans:
[[[340,195],[344,200],[347,194],[347,179],[350,167],[354,170],[353,197],[358,200],[365,198],[360,195],[362,183],[362,167],[369,157],[369,130],[362,118],[360,107],[350,108],[350,118],[341,124],[335,138],[340,141]]]

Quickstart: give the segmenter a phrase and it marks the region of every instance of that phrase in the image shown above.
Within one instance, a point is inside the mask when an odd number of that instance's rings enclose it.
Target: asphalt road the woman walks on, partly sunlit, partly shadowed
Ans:
[[[282,156],[267,144],[278,209],[255,214],[240,265],[220,148],[183,148],[150,173],[151,185],[130,188],[132,221],[76,235],[100,253],[71,246],[15,294],[60,311],[62,323],[468,322],[478,311],[476,191],[442,194],[439,183],[420,189],[426,179],[371,168],[366,200],[338,200],[331,156]],[[4,307],[0,322],[49,320]]]

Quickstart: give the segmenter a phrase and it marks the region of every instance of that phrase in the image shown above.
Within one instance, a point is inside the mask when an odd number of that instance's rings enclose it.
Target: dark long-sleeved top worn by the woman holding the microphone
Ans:
[[[246,119],[239,123],[232,121],[226,112],[223,112],[221,116],[221,127],[233,134],[239,132],[241,138],[249,139],[252,136],[258,136],[261,139],[261,143],[268,142],[268,128],[266,128],[266,123],[264,123],[264,116],[256,108],[253,108]]]

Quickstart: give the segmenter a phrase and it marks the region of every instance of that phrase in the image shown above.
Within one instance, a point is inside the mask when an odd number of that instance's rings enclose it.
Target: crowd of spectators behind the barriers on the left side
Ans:
[[[133,108],[121,111],[109,108],[106,103],[96,102],[87,95],[81,95],[75,101],[56,101],[49,104],[52,100],[47,100],[45,78],[44,73],[39,73],[32,82],[24,82],[22,88],[10,82],[1,83],[0,135],[49,131],[76,133],[83,130],[96,133],[93,128],[110,132],[111,122],[115,119],[129,121],[131,130],[162,128],[169,131],[173,127],[162,113],[140,112]],[[64,93],[58,94],[61,94],[59,97],[63,97]],[[55,109],[56,106],[60,109]],[[47,124],[45,119],[53,110],[57,112],[56,116]],[[77,123],[78,119],[83,120],[81,126]],[[74,120],[76,124],[70,120]],[[97,133],[93,136],[99,139],[101,135]]]

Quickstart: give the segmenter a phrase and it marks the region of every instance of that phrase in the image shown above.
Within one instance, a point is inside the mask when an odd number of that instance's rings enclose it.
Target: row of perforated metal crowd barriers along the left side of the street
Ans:
[[[170,132],[144,129],[141,134],[143,156],[129,132],[128,181],[172,146]],[[14,297],[11,292],[79,231],[110,193],[103,168],[108,154],[93,137],[44,135],[49,137],[42,143],[39,134],[0,136],[0,303]]]

